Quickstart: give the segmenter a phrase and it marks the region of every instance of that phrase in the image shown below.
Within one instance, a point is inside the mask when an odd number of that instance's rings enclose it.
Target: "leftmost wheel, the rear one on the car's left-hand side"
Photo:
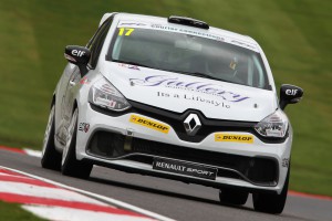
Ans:
[[[46,169],[60,170],[61,154],[55,150],[54,146],[54,116],[55,105],[53,104],[50,110],[49,122],[43,140],[41,166]]]

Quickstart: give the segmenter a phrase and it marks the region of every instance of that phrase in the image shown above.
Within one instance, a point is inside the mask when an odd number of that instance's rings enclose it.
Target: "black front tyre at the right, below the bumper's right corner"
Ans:
[[[287,192],[288,192],[288,183],[289,183],[289,175],[290,167],[287,172],[287,178],[280,194],[269,194],[269,193],[253,193],[253,208],[257,211],[280,214],[283,211]]]

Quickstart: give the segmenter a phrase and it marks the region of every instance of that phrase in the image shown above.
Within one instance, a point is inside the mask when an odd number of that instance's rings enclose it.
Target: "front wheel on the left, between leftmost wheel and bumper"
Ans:
[[[76,159],[76,134],[77,134],[77,116],[79,109],[73,113],[72,120],[69,126],[68,143],[62,152],[61,172],[65,176],[77,177],[82,179],[89,178],[93,165]]]

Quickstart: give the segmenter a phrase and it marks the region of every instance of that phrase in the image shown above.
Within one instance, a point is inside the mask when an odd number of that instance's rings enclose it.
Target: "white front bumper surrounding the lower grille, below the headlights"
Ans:
[[[167,134],[131,123],[133,115],[167,125]],[[95,165],[129,172],[166,177],[185,182],[222,188],[243,188],[249,191],[280,193],[287,175],[291,149],[290,136],[282,143],[267,144],[253,135],[252,144],[216,141],[215,133],[200,141],[186,141],[156,115],[126,113],[110,116],[96,112],[90,104],[80,108],[79,124],[89,124],[89,130],[77,133],[76,156]],[[216,133],[252,135],[250,131],[220,130]],[[184,160],[218,169],[215,180],[153,169],[154,158]]]

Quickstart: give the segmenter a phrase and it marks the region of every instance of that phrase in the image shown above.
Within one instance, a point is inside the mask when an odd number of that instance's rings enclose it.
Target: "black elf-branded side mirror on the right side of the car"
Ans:
[[[282,84],[280,87],[280,108],[284,109],[288,104],[295,104],[300,102],[303,96],[303,90],[301,87]]]

